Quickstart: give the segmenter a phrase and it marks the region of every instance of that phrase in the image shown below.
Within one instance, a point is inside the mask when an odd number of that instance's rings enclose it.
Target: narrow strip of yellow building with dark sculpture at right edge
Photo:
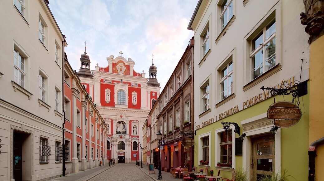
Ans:
[[[306,0],[305,14],[301,14],[302,24],[307,25],[305,31],[310,35],[309,59],[309,175],[311,181],[324,178],[324,117],[323,117],[323,89],[324,89],[324,1]],[[316,14],[315,14],[316,13]],[[315,25],[315,26],[314,26]],[[315,161],[315,163],[314,163]],[[315,169],[315,170],[314,170]]]

